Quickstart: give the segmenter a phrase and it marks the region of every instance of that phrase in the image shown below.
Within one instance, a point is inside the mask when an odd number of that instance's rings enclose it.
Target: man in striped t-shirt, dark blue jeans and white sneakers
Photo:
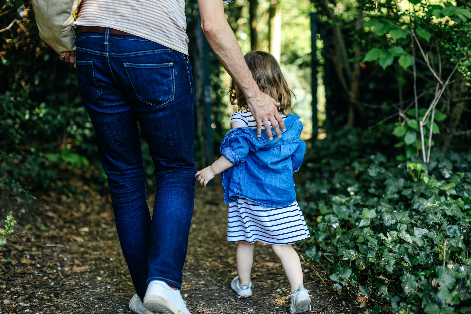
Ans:
[[[199,0],[204,34],[261,126],[284,130],[278,103],[261,92],[228,25],[223,0]],[[81,97],[108,176],[116,229],[139,314],[189,314],[180,295],[194,203],[193,83],[184,0],[83,0],[74,25]],[[138,124],[157,178],[149,215]],[[273,139],[267,128],[269,139]],[[143,302],[141,302],[143,300]]]

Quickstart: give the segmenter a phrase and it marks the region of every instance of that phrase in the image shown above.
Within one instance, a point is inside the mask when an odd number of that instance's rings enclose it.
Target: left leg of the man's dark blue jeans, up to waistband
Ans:
[[[78,83],[108,176],[122,251],[136,292],[142,299],[147,288],[151,218],[146,203],[137,117],[110,71],[104,56],[104,42],[105,35],[79,34]],[[82,52],[81,48],[95,51]]]

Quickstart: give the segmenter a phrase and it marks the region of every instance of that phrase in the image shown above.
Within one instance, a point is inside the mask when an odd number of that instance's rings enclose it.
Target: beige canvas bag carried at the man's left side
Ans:
[[[81,0],[33,0],[39,35],[60,55],[75,50],[72,23],[77,18]]]

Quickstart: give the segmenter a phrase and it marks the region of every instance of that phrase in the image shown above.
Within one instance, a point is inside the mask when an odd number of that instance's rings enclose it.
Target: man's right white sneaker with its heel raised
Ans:
[[[180,290],[174,290],[160,280],[149,282],[144,297],[144,306],[154,314],[190,314]]]

